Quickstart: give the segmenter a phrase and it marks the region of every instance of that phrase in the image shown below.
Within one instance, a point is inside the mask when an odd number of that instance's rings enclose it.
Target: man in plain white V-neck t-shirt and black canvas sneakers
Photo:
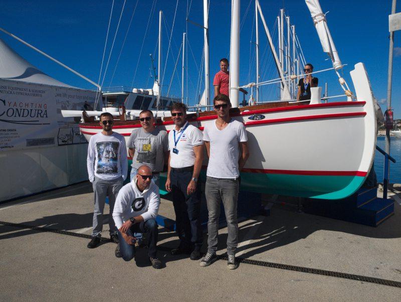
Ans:
[[[205,188],[209,221],[208,253],[200,261],[200,266],[208,266],[217,259],[220,204],[223,201],[228,229],[227,266],[235,269],[238,267],[235,250],[238,244],[239,178],[249,157],[248,137],[244,124],[230,117],[231,102],[227,95],[217,95],[213,104],[218,117],[216,121],[207,123],[204,129],[209,156]]]

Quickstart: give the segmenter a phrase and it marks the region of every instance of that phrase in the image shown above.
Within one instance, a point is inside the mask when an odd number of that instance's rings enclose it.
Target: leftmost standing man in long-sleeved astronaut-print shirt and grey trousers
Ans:
[[[100,243],[103,209],[107,195],[110,206],[110,239],[118,243],[117,228],[111,215],[118,191],[127,177],[128,161],[125,138],[121,134],[113,132],[113,122],[113,115],[103,112],[100,115],[100,125],[103,130],[93,135],[88,145],[86,160],[88,175],[95,193],[92,240],[88,243],[88,248],[95,248]]]

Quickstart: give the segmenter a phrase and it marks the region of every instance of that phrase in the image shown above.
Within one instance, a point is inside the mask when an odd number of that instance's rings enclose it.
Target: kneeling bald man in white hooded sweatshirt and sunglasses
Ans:
[[[159,188],[152,181],[152,170],[143,165],[129,184],[118,193],[113,219],[118,229],[120,253],[125,261],[135,256],[134,233],[148,233],[148,256],[154,268],[161,268],[156,256],[158,225],[155,220],[160,205]]]

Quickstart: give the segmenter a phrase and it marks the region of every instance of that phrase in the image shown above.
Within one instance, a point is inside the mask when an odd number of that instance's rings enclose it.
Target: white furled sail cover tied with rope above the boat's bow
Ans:
[[[313,23],[315,24],[320,43],[323,47],[323,51],[329,55],[335,69],[342,68],[340,58],[338,57],[333,39],[331,38],[330,31],[327,26],[326,17],[322,12],[319,0],[305,0],[305,2],[312,16]]]

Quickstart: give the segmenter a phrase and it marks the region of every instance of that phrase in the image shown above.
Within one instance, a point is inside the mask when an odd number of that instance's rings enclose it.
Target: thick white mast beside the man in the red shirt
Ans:
[[[240,0],[233,0],[231,11],[230,101],[236,108],[240,82]]]

